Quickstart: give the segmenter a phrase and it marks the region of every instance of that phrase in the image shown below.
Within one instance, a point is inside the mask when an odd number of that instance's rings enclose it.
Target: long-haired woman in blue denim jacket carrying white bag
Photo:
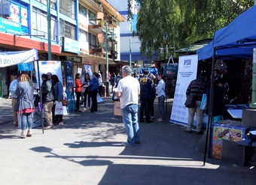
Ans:
[[[59,78],[56,75],[51,76],[51,82],[53,83],[53,92],[54,92],[54,104],[53,104],[53,119],[56,124],[63,124],[62,115],[55,115],[55,108],[57,102],[62,102],[63,100],[63,85],[61,82],[59,82]],[[63,106],[63,105],[62,105]]]

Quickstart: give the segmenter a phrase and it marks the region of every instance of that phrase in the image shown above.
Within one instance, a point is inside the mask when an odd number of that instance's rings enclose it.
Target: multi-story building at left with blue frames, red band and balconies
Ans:
[[[0,7],[0,50],[35,48],[39,59],[47,60],[47,0],[2,0]],[[89,64],[93,71],[101,70],[106,76],[106,55],[109,64],[116,65],[114,59],[120,60],[120,22],[124,21],[124,16],[105,0],[50,0],[52,60],[73,61],[74,74],[78,67]],[[0,68],[5,96],[15,70],[17,66]]]

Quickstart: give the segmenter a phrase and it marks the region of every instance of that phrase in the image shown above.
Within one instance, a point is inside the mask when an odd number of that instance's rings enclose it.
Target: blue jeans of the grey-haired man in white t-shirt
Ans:
[[[123,115],[123,124],[128,136],[127,142],[134,145],[139,141],[139,124],[138,124],[138,105],[130,104],[121,109]]]

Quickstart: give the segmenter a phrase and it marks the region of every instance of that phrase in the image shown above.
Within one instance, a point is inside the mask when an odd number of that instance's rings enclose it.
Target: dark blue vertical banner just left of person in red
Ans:
[[[65,77],[66,77],[66,95],[68,100],[68,112],[75,111],[75,96],[74,96],[74,79],[72,72],[72,62],[65,61]]]

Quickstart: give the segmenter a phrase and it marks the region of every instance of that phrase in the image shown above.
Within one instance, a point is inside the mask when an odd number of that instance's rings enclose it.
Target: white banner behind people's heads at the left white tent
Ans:
[[[39,66],[40,79],[38,79],[38,66]],[[38,61],[38,64],[37,64],[37,61],[35,61],[35,74],[36,74],[37,82],[39,82],[39,80],[40,80],[40,84],[41,84],[42,83],[41,75],[43,73],[46,74],[48,72],[58,76],[59,82],[62,83],[61,61]],[[38,88],[39,88],[39,86],[38,86]]]

